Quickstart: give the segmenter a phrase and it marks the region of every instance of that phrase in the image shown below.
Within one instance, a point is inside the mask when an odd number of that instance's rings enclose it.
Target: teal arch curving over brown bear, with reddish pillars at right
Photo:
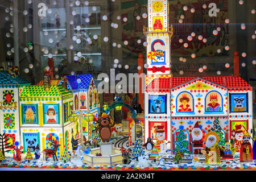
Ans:
[[[105,110],[105,113],[106,114],[109,114],[110,113],[110,110],[114,109],[115,107],[117,106],[122,106],[122,107],[126,107],[127,109],[129,109],[129,111],[131,112],[131,118],[133,118],[134,120],[134,138],[136,139],[137,136],[137,131],[136,131],[136,124],[139,124],[141,125],[142,127],[142,138],[143,138],[143,142],[144,142],[144,126],[143,126],[143,123],[141,122],[140,119],[136,118],[137,117],[137,114],[136,114],[136,111],[133,109],[133,107],[131,107],[129,104],[126,104],[125,102],[121,102],[121,101],[117,101],[117,102],[114,102],[112,105],[110,105],[106,110]],[[130,119],[132,120],[132,119]],[[129,122],[133,122],[133,121],[129,121]],[[130,143],[130,140],[131,140],[131,132],[130,132],[130,128],[129,128],[129,145],[131,144]]]

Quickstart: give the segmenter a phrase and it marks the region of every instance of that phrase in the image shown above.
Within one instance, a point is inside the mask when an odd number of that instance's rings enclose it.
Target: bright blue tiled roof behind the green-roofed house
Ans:
[[[68,89],[72,90],[79,90],[79,89],[88,89],[90,85],[90,81],[93,79],[92,75],[74,75],[74,76],[65,76],[68,78]],[[80,83],[77,82],[77,79],[81,80]],[[63,80],[59,82],[59,84],[62,84]],[[70,88],[70,87],[71,88]]]

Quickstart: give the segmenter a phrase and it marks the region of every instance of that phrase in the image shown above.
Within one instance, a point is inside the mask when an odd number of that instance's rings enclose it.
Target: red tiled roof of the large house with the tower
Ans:
[[[185,82],[193,80],[198,77],[168,77],[168,78],[154,78],[147,85],[147,92],[151,92],[150,90],[166,90],[175,88],[176,86],[182,85]],[[214,82],[215,84],[225,86],[226,88],[251,88],[245,80],[243,80],[239,76],[213,76],[213,77],[201,77],[204,80]],[[170,85],[171,81],[171,85]]]

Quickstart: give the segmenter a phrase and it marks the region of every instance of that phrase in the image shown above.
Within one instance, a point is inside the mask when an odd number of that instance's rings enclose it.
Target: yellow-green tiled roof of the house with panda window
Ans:
[[[51,85],[51,90],[45,91],[43,85],[27,85],[24,86],[20,97],[61,97],[72,94],[69,90],[65,90],[61,85]]]

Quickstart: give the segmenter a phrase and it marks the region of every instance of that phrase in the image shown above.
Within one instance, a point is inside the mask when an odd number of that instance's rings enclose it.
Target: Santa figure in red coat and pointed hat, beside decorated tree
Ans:
[[[192,130],[192,138],[193,141],[191,144],[193,144],[193,154],[201,154],[201,149],[203,149],[203,132],[200,129],[199,122],[197,121],[193,130]]]

